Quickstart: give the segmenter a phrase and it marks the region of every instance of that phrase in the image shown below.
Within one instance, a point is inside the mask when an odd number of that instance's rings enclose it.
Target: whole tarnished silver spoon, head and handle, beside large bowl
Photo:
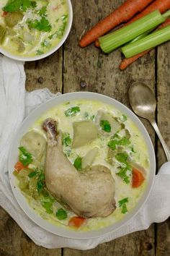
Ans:
[[[133,108],[135,114],[145,119],[148,119],[155,129],[161,144],[164,148],[166,158],[170,161],[170,151],[166,142],[164,141],[161,132],[158,129],[155,120],[155,111],[156,111],[156,98],[153,95],[153,92],[147,85],[143,82],[134,82],[130,85],[128,91],[130,106]]]

